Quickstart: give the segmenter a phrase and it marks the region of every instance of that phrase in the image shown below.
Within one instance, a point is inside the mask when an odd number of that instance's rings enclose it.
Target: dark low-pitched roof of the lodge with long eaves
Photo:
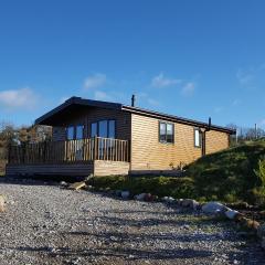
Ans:
[[[168,121],[180,123],[180,124],[197,126],[197,127],[201,127],[201,128],[209,128],[208,123],[202,123],[202,121],[198,121],[198,120],[193,120],[193,119],[187,119],[187,118],[168,115],[168,114],[163,114],[163,113],[158,113],[158,112],[153,112],[153,110],[149,110],[149,109],[145,109],[145,108],[126,106],[126,105],[121,105],[119,103],[99,102],[99,100],[85,99],[85,98],[81,98],[81,97],[71,97],[65,103],[61,104],[56,108],[52,109],[51,112],[49,112],[49,113],[44,114],[43,116],[41,116],[40,118],[38,118],[35,120],[35,124],[36,125],[40,125],[40,124],[47,125],[49,123],[51,123],[51,120],[53,119],[53,117],[55,115],[60,116],[60,114],[65,112],[65,109],[71,110],[71,108],[72,108],[72,110],[73,110],[74,107],[87,107],[87,106],[129,112],[132,114],[139,114],[139,115],[153,117],[153,118],[158,118],[158,119],[163,119],[163,120],[168,120]],[[216,126],[216,125],[211,125],[211,129],[227,132],[231,135],[235,134],[235,130],[233,130],[231,128]]]

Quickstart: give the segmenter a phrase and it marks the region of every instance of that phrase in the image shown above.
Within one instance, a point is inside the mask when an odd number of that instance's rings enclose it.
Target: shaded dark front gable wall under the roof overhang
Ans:
[[[67,119],[62,120],[59,127],[53,129],[54,140],[65,140],[67,126],[84,125],[84,137],[91,136],[91,124],[103,119],[116,120],[116,139],[129,140],[130,139],[130,114],[105,108],[86,108],[83,110],[74,112]]]

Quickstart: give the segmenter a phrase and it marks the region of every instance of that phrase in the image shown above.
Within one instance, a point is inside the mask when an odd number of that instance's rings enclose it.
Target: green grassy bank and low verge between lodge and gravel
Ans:
[[[208,155],[187,168],[184,178],[103,177],[93,178],[96,189],[150,192],[163,197],[193,198],[199,201],[246,201],[265,205],[265,141],[248,141]]]

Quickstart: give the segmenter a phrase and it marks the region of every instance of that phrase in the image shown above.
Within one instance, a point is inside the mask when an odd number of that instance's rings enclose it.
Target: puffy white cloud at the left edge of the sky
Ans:
[[[29,87],[0,92],[0,106],[6,110],[33,109],[38,104],[38,95]]]

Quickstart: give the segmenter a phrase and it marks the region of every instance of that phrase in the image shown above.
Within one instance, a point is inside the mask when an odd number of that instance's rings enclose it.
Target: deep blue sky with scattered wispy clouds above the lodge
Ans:
[[[0,3],[0,120],[65,98],[265,128],[265,1]]]

